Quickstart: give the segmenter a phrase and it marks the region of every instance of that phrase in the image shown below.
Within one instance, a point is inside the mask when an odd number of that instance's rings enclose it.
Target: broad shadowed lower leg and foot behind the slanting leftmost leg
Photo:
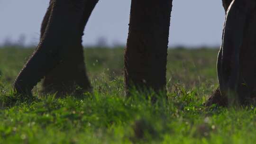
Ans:
[[[78,57],[80,54],[77,54]],[[60,63],[43,81],[43,94],[81,96],[84,92],[91,92],[91,83],[86,75],[83,57],[68,58]]]

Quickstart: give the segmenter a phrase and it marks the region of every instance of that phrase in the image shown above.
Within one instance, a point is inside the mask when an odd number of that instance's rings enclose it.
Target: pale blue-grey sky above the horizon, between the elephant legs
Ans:
[[[108,45],[126,44],[131,0],[99,0],[85,28],[83,45],[105,37]],[[6,38],[38,43],[49,0],[0,0],[0,44]],[[221,0],[173,0],[169,45],[217,46],[221,42],[224,10]]]

